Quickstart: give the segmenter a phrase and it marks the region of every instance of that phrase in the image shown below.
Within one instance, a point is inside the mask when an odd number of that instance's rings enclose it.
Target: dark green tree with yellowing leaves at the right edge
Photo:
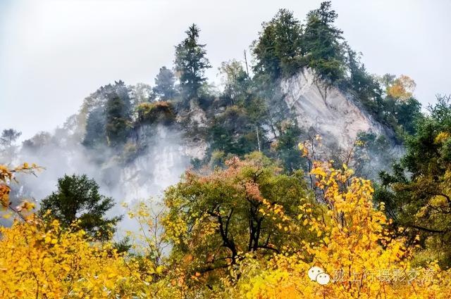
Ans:
[[[422,236],[429,248],[426,260],[440,260],[451,266],[451,250],[443,246],[451,239],[451,104],[449,96],[439,96],[419,118],[415,134],[407,139],[407,153],[391,173],[381,174],[376,200],[387,206],[388,216],[400,233],[414,240]],[[431,251],[431,248],[435,248]],[[439,249],[441,248],[441,249]]]

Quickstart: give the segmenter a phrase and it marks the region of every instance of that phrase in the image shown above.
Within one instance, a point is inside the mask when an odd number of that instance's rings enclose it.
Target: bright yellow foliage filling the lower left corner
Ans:
[[[125,258],[111,243],[94,242],[83,230],[25,215],[25,208],[32,208],[27,202],[10,207],[14,173],[38,168],[0,165],[2,206],[20,215],[11,227],[0,228],[0,298],[152,297],[150,262]]]

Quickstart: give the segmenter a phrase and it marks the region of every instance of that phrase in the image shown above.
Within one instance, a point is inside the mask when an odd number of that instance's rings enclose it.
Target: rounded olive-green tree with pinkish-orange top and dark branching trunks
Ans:
[[[295,207],[309,203],[302,172],[280,174],[258,153],[245,160],[233,158],[226,165],[207,176],[187,172],[166,191],[169,210],[163,223],[171,231],[172,254],[189,255],[194,272],[223,270],[249,252],[280,253],[297,240],[290,236],[289,224],[297,221]],[[282,212],[284,216],[274,220]],[[177,231],[172,229],[175,225]]]

